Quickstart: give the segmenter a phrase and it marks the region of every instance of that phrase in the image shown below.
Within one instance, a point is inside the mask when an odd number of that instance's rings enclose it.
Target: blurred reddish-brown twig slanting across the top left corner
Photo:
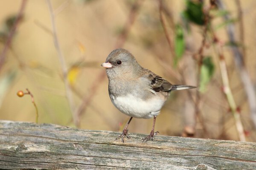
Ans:
[[[24,12],[24,9],[26,7],[26,2],[27,2],[27,0],[23,0],[21,2],[19,13],[17,14],[16,20],[15,20],[15,22],[14,22],[14,24],[12,26],[12,29],[11,29],[11,31],[9,33],[9,36],[8,36],[8,38],[6,40],[6,44],[5,44],[4,48],[3,48],[3,51],[0,54],[0,70],[1,70],[1,68],[3,66],[4,61],[5,61],[6,52],[7,52],[8,48],[11,45],[12,38],[13,38],[13,36],[15,34],[16,28],[17,28],[18,24],[20,23],[20,20],[21,20],[21,18],[23,16],[23,12]]]

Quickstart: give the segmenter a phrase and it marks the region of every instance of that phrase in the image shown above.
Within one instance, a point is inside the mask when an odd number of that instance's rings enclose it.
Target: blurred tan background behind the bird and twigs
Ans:
[[[6,29],[6,20],[17,14],[22,1],[2,0],[0,2],[0,31]],[[230,16],[237,18],[235,0],[223,1]],[[145,68],[164,77],[173,84],[197,85],[197,62],[193,54],[198,51],[202,41],[202,28],[191,24],[186,33],[186,51],[177,68],[173,66],[173,56],[160,22],[159,1],[144,0],[52,0],[55,25],[60,49],[69,69],[68,80],[72,91],[75,109],[88,98],[84,111],[79,116],[81,129],[122,130],[128,116],[120,113],[108,96],[108,79],[99,75],[105,71],[100,64],[116,47],[128,49]],[[132,7],[137,3],[137,11]],[[173,22],[181,23],[181,13],[185,8],[183,0],[166,0],[164,6],[172,14]],[[205,6],[209,6],[206,1]],[[245,66],[250,79],[256,82],[256,2],[241,0],[244,19],[244,44],[246,49]],[[120,37],[122,30],[134,17],[127,38]],[[167,17],[166,17],[166,20]],[[212,21],[218,26],[221,17]],[[168,31],[174,39],[172,26]],[[235,28],[239,24],[235,23]],[[239,31],[236,29],[237,35]],[[221,41],[227,41],[226,28],[215,32]],[[236,37],[239,39],[239,36]],[[124,43],[122,44],[122,40]],[[238,40],[239,41],[239,40]],[[209,40],[210,42],[210,40]],[[5,43],[0,43],[0,51]],[[211,45],[211,44],[209,44]],[[195,137],[239,140],[235,122],[229,105],[221,90],[222,80],[219,61],[214,48],[206,48],[205,56],[212,56],[215,63],[214,75],[201,93],[201,118],[196,119]],[[229,47],[224,48],[230,86],[241,110],[241,121],[247,141],[256,141],[248,109],[247,96],[236,70]],[[183,73],[182,75],[180,73]],[[185,82],[184,82],[185,81]],[[0,69],[0,119],[35,122],[35,107],[29,95],[19,98],[19,90],[33,94],[38,107],[39,123],[53,123],[75,127],[72,111],[66,96],[61,64],[52,36],[52,24],[45,0],[28,0],[25,11],[17,26],[16,33],[7,51],[3,67]],[[96,92],[94,92],[96,90]],[[155,129],[161,135],[182,136],[188,113],[195,112],[189,95],[195,99],[197,90],[172,92],[168,102],[157,117]],[[130,133],[149,133],[153,119],[133,119]],[[207,130],[205,131],[204,128]],[[208,133],[205,135],[204,133]]]

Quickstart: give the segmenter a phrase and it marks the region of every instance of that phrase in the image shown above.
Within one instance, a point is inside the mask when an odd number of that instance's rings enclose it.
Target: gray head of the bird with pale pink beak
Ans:
[[[108,78],[125,77],[125,74],[135,74],[141,69],[134,56],[123,48],[113,50],[101,66],[107,68]]]

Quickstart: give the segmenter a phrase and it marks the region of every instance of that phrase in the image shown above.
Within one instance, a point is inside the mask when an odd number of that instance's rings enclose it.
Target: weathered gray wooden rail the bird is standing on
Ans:
[[[0,121],[0,169],[256,170],[256,143]]]

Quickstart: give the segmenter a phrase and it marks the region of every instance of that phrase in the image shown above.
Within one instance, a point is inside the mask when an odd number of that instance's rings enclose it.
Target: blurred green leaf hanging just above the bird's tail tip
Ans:
[[[203,65],[201,67],[201,75],[200,75],[200,88],[201,92],[206,91],[207,84],[212,79],[214,73],[215,66],[212,62],[212,57],[204,57]]]

